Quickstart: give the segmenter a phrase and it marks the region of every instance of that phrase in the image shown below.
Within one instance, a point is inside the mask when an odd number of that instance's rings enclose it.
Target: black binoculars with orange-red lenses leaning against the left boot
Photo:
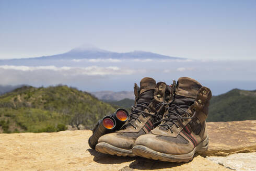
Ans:
[[[120,129],[128,119],[129,113],[124,108],[119,108],[115,113],[104,116],[92,130],[92,136],[88,140],[90,147],[95,149],[101,136]]]

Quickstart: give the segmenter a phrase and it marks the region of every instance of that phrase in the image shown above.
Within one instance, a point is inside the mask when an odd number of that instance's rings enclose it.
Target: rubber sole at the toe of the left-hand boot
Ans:
[[[126,149],[121,149],[117,148],[116,146],[110,145],[106,142],[100,142],[96,145],[95,148],[96,151],[104,154],[110,154],[110,155],[117,155],[117,156],[130,156],[134,157],[136,156],[133,154],[132,149],[131,150],[126,150]]]

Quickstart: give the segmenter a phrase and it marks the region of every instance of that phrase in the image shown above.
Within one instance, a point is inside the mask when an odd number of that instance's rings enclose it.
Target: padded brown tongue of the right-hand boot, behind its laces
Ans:
[[[197,96],[197,92],[202,87],[202,85],[188,77],[181,77],[177,82],[177,88],[176,93],[174,96],[174,101],[172,104],[179,106],[184,111],[187,111],[189,108],[188,106],[191,106],[194,103],[194,100]],[[182,111],[180,108],[172,105],[172,108],[170,108],[170,111],[173,111],[174,113],[177,113],[179,115],[183,115],[184,111]],[[182,106],[185,105],[185,106]],[[175,114],[169,115],[169,118],[171,118],[173,121],[177,120],[175,118],[180,117]],[[170,120],[167,120],[165,124],[172,126],[173,122]],[[167,126],[160,127],[162,130],[168,130]]]

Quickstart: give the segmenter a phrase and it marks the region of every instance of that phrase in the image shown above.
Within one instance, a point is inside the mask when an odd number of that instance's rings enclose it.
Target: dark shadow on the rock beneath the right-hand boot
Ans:
[[[154,169],[162,169],[162,168],[172,168],[181,166],[185,163],[169,163],[169,162],[161,162],[155,160],[149,160],[147,158],[137,157],[135,161],[133,161],[129,167],[132,169],[139,170],[154,170]]]

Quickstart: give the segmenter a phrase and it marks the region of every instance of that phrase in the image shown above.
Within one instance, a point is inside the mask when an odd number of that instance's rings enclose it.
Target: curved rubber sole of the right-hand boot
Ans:
[[[160,153],[147,148],[144,145],[135,145],[133,147],[133,153],[137,156],[159,160],[164,162],[189,162],[192,161],[195,152],[203,152],[208,149],[208,136],[205,140],[200,142],[190,153],[188,154],[166,154]]]

